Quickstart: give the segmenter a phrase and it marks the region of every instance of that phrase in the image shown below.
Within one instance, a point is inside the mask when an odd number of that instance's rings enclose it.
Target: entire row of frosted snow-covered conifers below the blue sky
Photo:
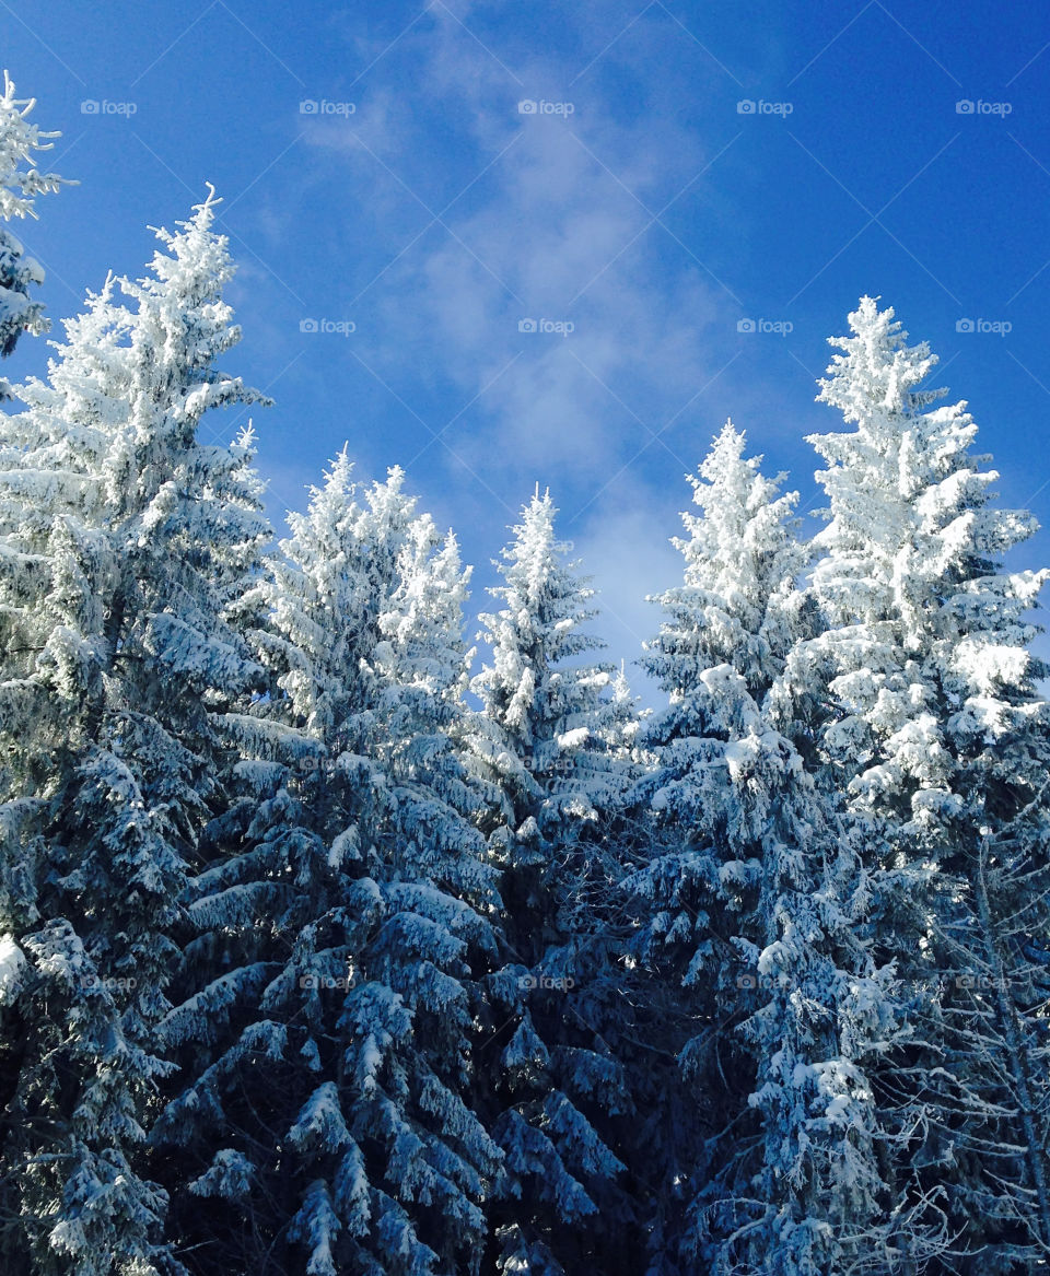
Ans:
[[[277,540],[216,203],[0,416],[3,1271],[1041,1270],[1050,573],[935,356],[861,299],[808,542],[726,424],[643,713],[538,489],[477,658],[401,471]]]

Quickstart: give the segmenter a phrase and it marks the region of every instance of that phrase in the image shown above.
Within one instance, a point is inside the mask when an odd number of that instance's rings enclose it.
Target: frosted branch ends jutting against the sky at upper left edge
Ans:
[[[33,98],[17,98],[14,84],[4,71],[0,94],[0,222],[17,217],[36,217],[37,195],[55,191],[63,179],[54,172],[42,174],[33,166],[34,152],[50,151],[57,133],[42,133],[29,122]],[[24,167],[28,166],[28,167]],[[20,241],[0,226],[0,355],[10,355],[23,332],[40,334],[47,330],[43,306],[32,301],[29,288],[43,283],[40,262],[26,255]],[[0,399],[10,397],[10,387],[0,380]]]

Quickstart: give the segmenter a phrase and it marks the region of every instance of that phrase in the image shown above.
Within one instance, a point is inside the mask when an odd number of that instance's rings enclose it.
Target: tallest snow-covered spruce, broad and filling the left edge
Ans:
[[[250,436],[196,439],[205,410],[256,397],[214,366],[239,339],[214,203],[157,232],[149,277],[89,297],[4,422],[3,929],[27,957],[1,1154],[11,1271],[171,1266],[143,1155],[168,1068],[157,1025],[219,799],[214,711],[260,672],[227,620],[268,537]]]

